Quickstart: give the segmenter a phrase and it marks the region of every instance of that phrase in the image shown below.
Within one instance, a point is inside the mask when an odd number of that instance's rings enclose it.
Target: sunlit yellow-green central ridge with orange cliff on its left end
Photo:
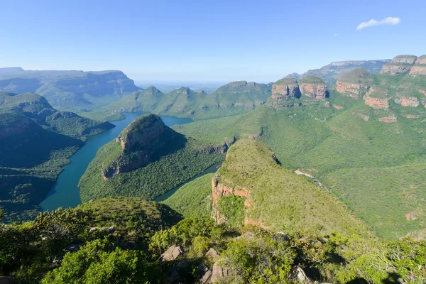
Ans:
[[[257,224],[272,231],[368,234],[368,229],[324,188],[280,167],[275,154],[253,139],[237,141],[212,179],[218,222]]]

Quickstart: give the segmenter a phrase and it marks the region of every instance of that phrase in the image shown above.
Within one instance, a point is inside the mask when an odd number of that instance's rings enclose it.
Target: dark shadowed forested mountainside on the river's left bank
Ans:
[[[88,136],[112,127],[57,111],[38,94],[0,93],[0,205],[7,220],[38,214],[67,158]]]

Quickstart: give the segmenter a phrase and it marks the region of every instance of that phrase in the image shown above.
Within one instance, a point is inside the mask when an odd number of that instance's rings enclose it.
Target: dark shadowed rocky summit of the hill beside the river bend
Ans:
[[[116,138],[121,154],[102,170],[102,178],[107,180],[148,164],[153,155],[165,146],[165,141],[173,138],[173,133],[155,114],[139,116]]]

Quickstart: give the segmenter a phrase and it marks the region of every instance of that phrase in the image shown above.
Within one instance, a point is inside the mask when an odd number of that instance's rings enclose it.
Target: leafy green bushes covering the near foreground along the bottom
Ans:
[[[425,241],[385,242],[315,229],[286,235],[255,226],[235,229],[209,218],[154,221],[135,231],[152,214],[159,220],[160,205],[138,198],[92,203],[1,225],[1,275],[23,284],[197,283],[219,266],[227,277],[218,280],[226,283],[297,283],[297,271],[321,283],[425,282]],[[178,218],[165,206],[163,212]],[[94,227],[99,220],[102,226]],[[138,239],[141,235],[146,238]],[[160,261],[173,245],[182,253]],[[207,254],[211,249],[219,255]]]

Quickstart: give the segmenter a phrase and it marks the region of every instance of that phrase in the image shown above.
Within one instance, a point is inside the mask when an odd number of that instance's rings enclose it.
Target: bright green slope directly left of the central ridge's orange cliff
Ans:
[[[212,178],[214,174],[202,175],[182,185],[172,196],[163,201],[187,218],[210,217],[212,214]]]

